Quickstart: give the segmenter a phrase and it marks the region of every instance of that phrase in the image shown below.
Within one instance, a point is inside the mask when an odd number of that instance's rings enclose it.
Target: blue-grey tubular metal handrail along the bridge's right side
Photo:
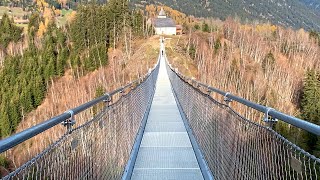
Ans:
[[[245,106],[248,106],[250,108],[253,108],[257,111],[260,111],[262,113],[265,113],[267,116],[270,116],[272,118],[275,118],[275,119],[278,119],[278,120],[282,120],[286,123],[289,123],[295,127],[298,127],[300,129],[303,129],[303,130],[306,130],[312,134],[315,134],[317,136],[320,136],[320,126],[317,125],[317,124],[313,124],[313,123],[310,123],[306,120],[303,120],[303,119],[299,119],[297,117],[293,117],[293,116],[290,116],[290,115],[287,115],[287,114],[284,114],[280,111],[277,111],[273,108],[270,108],[270,107],[266,107],[266,106],[263,106],[261,104],[257,104],[255,102],[252,102],[252,101],[249,101],[247,99],[244,99],[244,98],[241,98],[241,97],[238,97],[236,95],[233,95],[229,92],[224,92],[220,89],[217,89],[217,88],[214,88],[214,87],[210,87],[204,83],[201,83],[199,81],[196,81],[194,79],[191,79],[189,77],[186,77],[184,76],[183,74],[181,74],[177,69],[173,68],[171,66],[171,64],[169,62],[167,62],[170,69],[172,71],[174,71],[184,82],[194,86],[192,83],[196,84],[198,87],[203,87],[203,88],[206,88],[209,92],[215,92],[215,93],[218,93],[222,96],[224,96],[225,98],[228,98],[230,100],[234,100],[234,101],[237,101]]]

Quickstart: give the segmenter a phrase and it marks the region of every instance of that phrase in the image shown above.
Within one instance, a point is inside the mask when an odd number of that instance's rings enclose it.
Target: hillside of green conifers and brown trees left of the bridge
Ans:
[[[140,78],[158,57],[159,38],[126,1],[78,6],[62,27],[50,4],[37,8],[25,32],[7,14],[0,21],[1,139]],[[98,107],[79,115],[77,126]],[[1,175],[63,133],[57,126],[1,154]]]

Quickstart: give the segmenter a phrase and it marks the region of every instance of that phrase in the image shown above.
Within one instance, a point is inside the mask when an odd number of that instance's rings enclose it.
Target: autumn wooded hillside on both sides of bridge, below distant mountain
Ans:
[[[25,6],[25,2],[17,1],[15,5]],[[7,13],[2,16],[0,138],[119,88],[141,77],[156,62],[159,36],[154,36],[148,19],[158,14],[160,6],[144,4],[138,6],[142,9],[130,9],[125,0],[110,0],[107,4],[103,4],[103,0],[74,2],[36,0],[35,7],[23,7],[36,9],[30,13],[24,28],[15,24]],[[317,9],[310,5],[315,2],[308,2],[308,8]],[[67,10],[70,6],[76,7],[76,11]],[[63,23],[59,8],[69,12],[63,17]],[[251,20],[244,23],[239,18],[224,21],[195,18],[168,6],[163,8],[183,26],[183,35],[166,40],[169,61],[180,72],[223,91],[320,124],[319,33]],[[290,21],[288,17],[281,19]],[[310,21],[301,21],[317,27],[313,16],[310,17]],[[309,25],[288,24],[312,29]],[[77,123],[91,119],[99,107],[101,105],[78,116]],[[232,107],[262,123],[261,113],[237,103],[232,103]],[[275,130],[320,156],[318,137],[281,122]],[[63,126],[57,126],[1,154],[1,175],[34,157],[64,132]]]

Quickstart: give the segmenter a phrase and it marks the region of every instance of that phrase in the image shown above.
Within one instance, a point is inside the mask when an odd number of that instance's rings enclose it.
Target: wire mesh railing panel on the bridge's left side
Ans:
[[[140,80],[46,121],[50,123],[45,125],[53,127],[63,120],[68,132],[3,179],[121,179],[141,121],[151,105],[158,71],[159,59]],[[93,119],[72,128],[77,113],[97,103],[110,102],[118,94],[116,102],[107,103]],[[70,118],[63,119],[66,117]],[[1,152],[41,133],[35,129],[44,131],[42,127],[38,125],[0,141]]]

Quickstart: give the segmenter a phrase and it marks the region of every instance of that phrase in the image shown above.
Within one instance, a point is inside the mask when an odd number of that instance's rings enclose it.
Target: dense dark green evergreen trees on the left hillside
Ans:
[[[22,53],[6,55],[0,70],[0,137],[15,132],[17,125],[41,105],[51,82],[71,70],[81,77],[108,64],[108,49],[115,48],[124,29],[143,37],[143,14],[130,11],[125,0],[108,4],[79,5],[65,27],[58,28],[53,18],[34,12],[28,31],[14,25],[4,15],[0,22],[0,48],[9,44],[27,44]],[[132,31],[132,32],[131,32]]]

